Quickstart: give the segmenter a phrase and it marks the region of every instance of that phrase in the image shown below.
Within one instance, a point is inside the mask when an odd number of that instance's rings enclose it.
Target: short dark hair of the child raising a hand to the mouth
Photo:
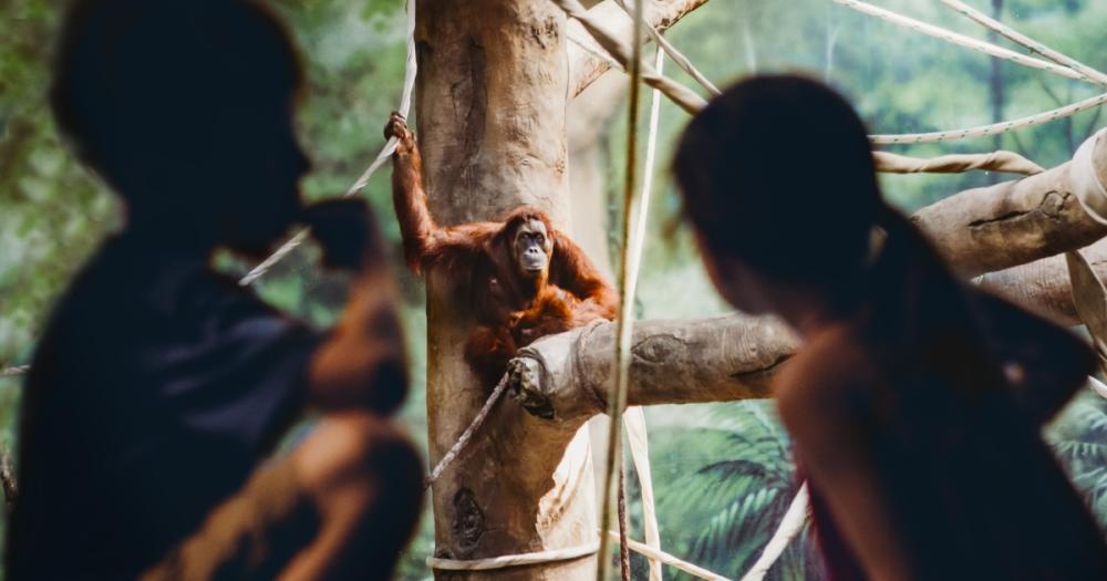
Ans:
[[[50,102],[81,156],[118,185],[137,155],[187,166],[278,107],[291,118],[301,85],[289,34],[259,2],[76,0]]]

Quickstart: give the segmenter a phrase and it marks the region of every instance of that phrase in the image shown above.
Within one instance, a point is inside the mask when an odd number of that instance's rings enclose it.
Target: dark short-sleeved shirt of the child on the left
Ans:
[[[302,406],[318,343],[204,257],[110,240],[28,378],[9,579],[133,578],[162,557]]]

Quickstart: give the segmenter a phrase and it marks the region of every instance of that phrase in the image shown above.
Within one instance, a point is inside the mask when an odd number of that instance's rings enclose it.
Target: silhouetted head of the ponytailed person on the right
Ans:
[[[674,169],[732,301],[758,281],[841,290],[863,268],[884,207],[865,125],[836,92],[799,76],[753,77],[714,98],[685,129]]]

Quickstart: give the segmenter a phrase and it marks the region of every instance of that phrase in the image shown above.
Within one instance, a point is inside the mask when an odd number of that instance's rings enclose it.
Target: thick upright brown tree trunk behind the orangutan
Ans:
[[[651,15],[668,25],[703,1],[649,3]],[[443,225],[488,220],[532,205],[571,231],[566,105],[594,77],[578,77],[570,90],[563,12],[546,0],[420,0],[415,34],[416,120],[435,218]],[[446,277],[426,273],[432,465],[492,387],[480,385],[464,361],[473,313],[452,295]],[[501,403],[433,486],[435,557],[474,560],[594,543],[589,443],[579,427]],[[584,580],[594,570],[590,556],[488,571],[439,570],[435,578]]]

